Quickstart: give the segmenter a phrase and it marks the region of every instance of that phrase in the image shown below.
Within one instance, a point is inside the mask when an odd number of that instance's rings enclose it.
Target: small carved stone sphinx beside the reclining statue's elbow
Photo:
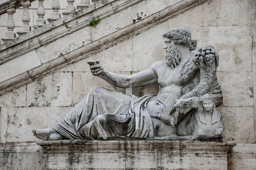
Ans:
[[[197,111],[192,117],[194,125],[193,135],[214,135],[223,136],[223,119],[221,112],[216,109],[214,97],[206,93],[199,100]]]

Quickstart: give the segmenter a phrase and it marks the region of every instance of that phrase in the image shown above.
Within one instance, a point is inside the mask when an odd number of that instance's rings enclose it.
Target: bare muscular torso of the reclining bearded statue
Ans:
[[[191,62],[192,60],[184,60],[174,70],[166,67],[165,61],[158,62],[153,67],[158,76],[159,93],[148,102],[147,110],[151,117],[160,122],[157,135],[175,134],[176,128],[168,125],[170,121],[169,110],[174,105],[175,100],[182,96],[182,88],[195,82],[194,79],[198,79],[195,70],[183,70],[186,69],[184,65],[193,65]]]

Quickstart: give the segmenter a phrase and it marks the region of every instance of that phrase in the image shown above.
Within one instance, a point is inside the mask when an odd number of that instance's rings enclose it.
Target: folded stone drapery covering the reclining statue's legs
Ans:
[[[53,128],[68,139],[153,138],[146,104],[154,96],[136,97],[93,87]]]

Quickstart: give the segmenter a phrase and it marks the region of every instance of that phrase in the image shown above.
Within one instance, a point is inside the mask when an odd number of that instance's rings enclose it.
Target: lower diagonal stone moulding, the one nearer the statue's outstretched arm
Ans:
[[[83,60],[87,57],[97,54],[98,52],[101,52],[102,50],[105,50],[112,45],[127,40],[128,38],[133,37],[145,30],[153,28],[157,24],[163,23],[169,18],[172,18],[175,15],[182,13],[185,10],[188,10],[189,8],[192,8],[196,5],[200,5],[205,1],[207,0],[182,0],[174,5],[171,5],[170,7],[166,7],[165,9],[154,13],[146,18],[143,18],[136,23],[128,25],[125,28],[117,30],[100,39],[97,39],[90,44],[79,47],[76,50],[68,52],[67,54],[61,55],[54,60],[51,60],[44,63],[43,65],[29,70],[29,81],[25,80],[23,77],[21,80],[19,75],[12,77],[9,80],[5,80],[4,82],[0,83],[0,95],[3,95],[7,92],[10,92],[11,90],[14,90],[31,82],[31,79],[34,80],[38,77],[43,77],[45,75],[51,74],[52,72],[60,70],[61,68],[65,67],[70,63],[78,62],[79,60]],[[98,42],[99,40],[100,42]]]

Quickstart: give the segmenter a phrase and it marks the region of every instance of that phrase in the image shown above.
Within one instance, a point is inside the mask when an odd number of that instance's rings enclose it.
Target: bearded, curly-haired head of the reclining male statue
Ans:
[[[164,49],[166,49],[167,66],[174,69],[181,61],[180,47],[195,50],[197,40],[191,40],[191,34],[186,28],[175,28],[167,31],[164,35]]]

